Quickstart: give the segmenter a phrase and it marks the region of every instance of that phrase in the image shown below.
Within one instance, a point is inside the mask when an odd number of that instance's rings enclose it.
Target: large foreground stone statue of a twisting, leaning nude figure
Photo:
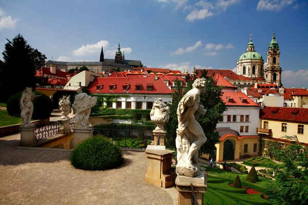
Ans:
[[[204,115],[206,110],[200,103],[200,95],[205,94],[205,78],[196,79],[189,90],[181,99],[177,115],[178,129],[176,138],[178,175],[194,177],[199,174],[201,168],[199,162],[199,149],[207,138],[202,127],[196,120]]]

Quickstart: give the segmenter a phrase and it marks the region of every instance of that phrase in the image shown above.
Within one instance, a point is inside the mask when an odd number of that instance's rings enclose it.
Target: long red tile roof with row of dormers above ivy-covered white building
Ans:
[[[123,90],[123,86],[130,84],[128,90]],[[147,90],[149,84],[153,85],[152,90]],[[101,90],[97,91],[98,85],[104,85]],[[109,86],[115,86],[114,90],[110,90]],[[136,90],[136,86],[142,86],[141,90]],[[98,77],[88,87],[89,93],[106,93],[106,94],[171,94],[171,90],[166,86],[164,81],[159,77]]]

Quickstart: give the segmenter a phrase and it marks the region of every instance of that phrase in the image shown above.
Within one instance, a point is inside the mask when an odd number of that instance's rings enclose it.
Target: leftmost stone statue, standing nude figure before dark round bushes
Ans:
[[[22,127],[30,127],[32,126],[30,119],[32,118],[33,113],[33,103],[35,95],[32,93],[32,88],[26,88],[22,94],[20,100],[21,107],[21,117],[22,117]]]

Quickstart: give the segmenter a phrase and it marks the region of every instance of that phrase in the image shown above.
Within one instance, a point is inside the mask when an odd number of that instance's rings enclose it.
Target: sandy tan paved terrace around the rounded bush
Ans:
[[[142,151],[123,151],[116,169],[84,171],[71,166],[69,151],[19,143],[20,134],[0,138],[0,204],[177,204],[174,187],[144,183]]]

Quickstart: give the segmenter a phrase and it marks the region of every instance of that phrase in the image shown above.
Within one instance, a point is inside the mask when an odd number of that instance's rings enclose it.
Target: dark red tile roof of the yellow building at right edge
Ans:
[[[308,109],[265,107],[263,110],[260,110],[260,118],[308,123]]]

